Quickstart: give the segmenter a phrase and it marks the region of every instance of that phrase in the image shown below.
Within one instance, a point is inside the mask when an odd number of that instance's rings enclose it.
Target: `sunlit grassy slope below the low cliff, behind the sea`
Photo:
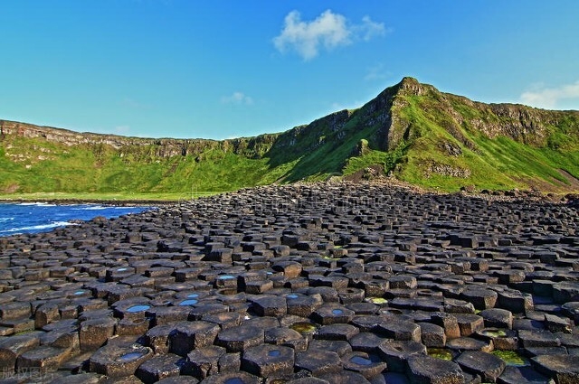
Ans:
[[[267,159],[250,159],[210,149],[204,160],[194,156],[119,157],[112,149],[98,156],[87,147],[64,147],[41,139],[11,137],[13,148],[32,160],[13,162],[0,147],[0,191],[18,185],[18,193],[153,193],[223,192],[245,186],[270,183],[264,171]],[[51,151],[50,153],[47,151]],[[38,156],[49,159],[38,160]],[[142,157],[142,156],[141,156]],[[275,170],[271,170],[275,173]],[[48,176],[50,175],[50,176]]]

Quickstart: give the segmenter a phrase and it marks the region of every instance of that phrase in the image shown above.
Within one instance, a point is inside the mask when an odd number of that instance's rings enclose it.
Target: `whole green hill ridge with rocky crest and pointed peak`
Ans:
[[[186,194],[388,175],[441,191],[577,192],[579,111],[484,104],[404,78],[362,108],[233,140],[80,134],[0,120],[0,193]]]

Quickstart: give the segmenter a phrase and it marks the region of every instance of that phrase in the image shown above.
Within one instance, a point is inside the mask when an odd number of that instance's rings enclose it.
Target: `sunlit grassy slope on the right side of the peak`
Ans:
[[[558,170],[564,169],[579,177],[579,145],[576,141],[579,125],[575,120],[561,126],[549,126],[550,136],[546,145],[535,147],[507,136],[490,139],[475,129],[469,129],[468,123],[459,126],[432,98],[406,96],[405,100],[407,107],[401,110],[401,114],[418,131],[404,156],[405,164],[396,173],[406,182],[446,191],[456,191],[461,185],[469,184],[493,190],[528,189],[540,184],[544,189],[565,191],[571,183]],[[461,105],[456,100],[452,107],[466,121],[479,117],[499,119],[492,114],[481,116],[476,108]],[[465,138],[470,145],[463,143]],[[445,153],[441,149],[442,143],[460,147],[462,155]],[[470,175],[464,178],[441,174],[425,177],[425,164],[444,164],[466,170]]]

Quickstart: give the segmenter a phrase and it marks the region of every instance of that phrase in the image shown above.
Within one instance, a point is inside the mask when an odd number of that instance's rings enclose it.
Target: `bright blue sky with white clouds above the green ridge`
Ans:
[[[579,109],[579,2],[18,0],[0,4],[0,119],[149,137],[256,136],[404,76]]]

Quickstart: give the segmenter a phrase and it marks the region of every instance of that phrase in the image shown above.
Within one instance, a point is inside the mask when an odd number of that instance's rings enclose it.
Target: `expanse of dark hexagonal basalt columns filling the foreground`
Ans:
[[[2,379],[578,382],[578,224],[339,183],[2,238]]]

